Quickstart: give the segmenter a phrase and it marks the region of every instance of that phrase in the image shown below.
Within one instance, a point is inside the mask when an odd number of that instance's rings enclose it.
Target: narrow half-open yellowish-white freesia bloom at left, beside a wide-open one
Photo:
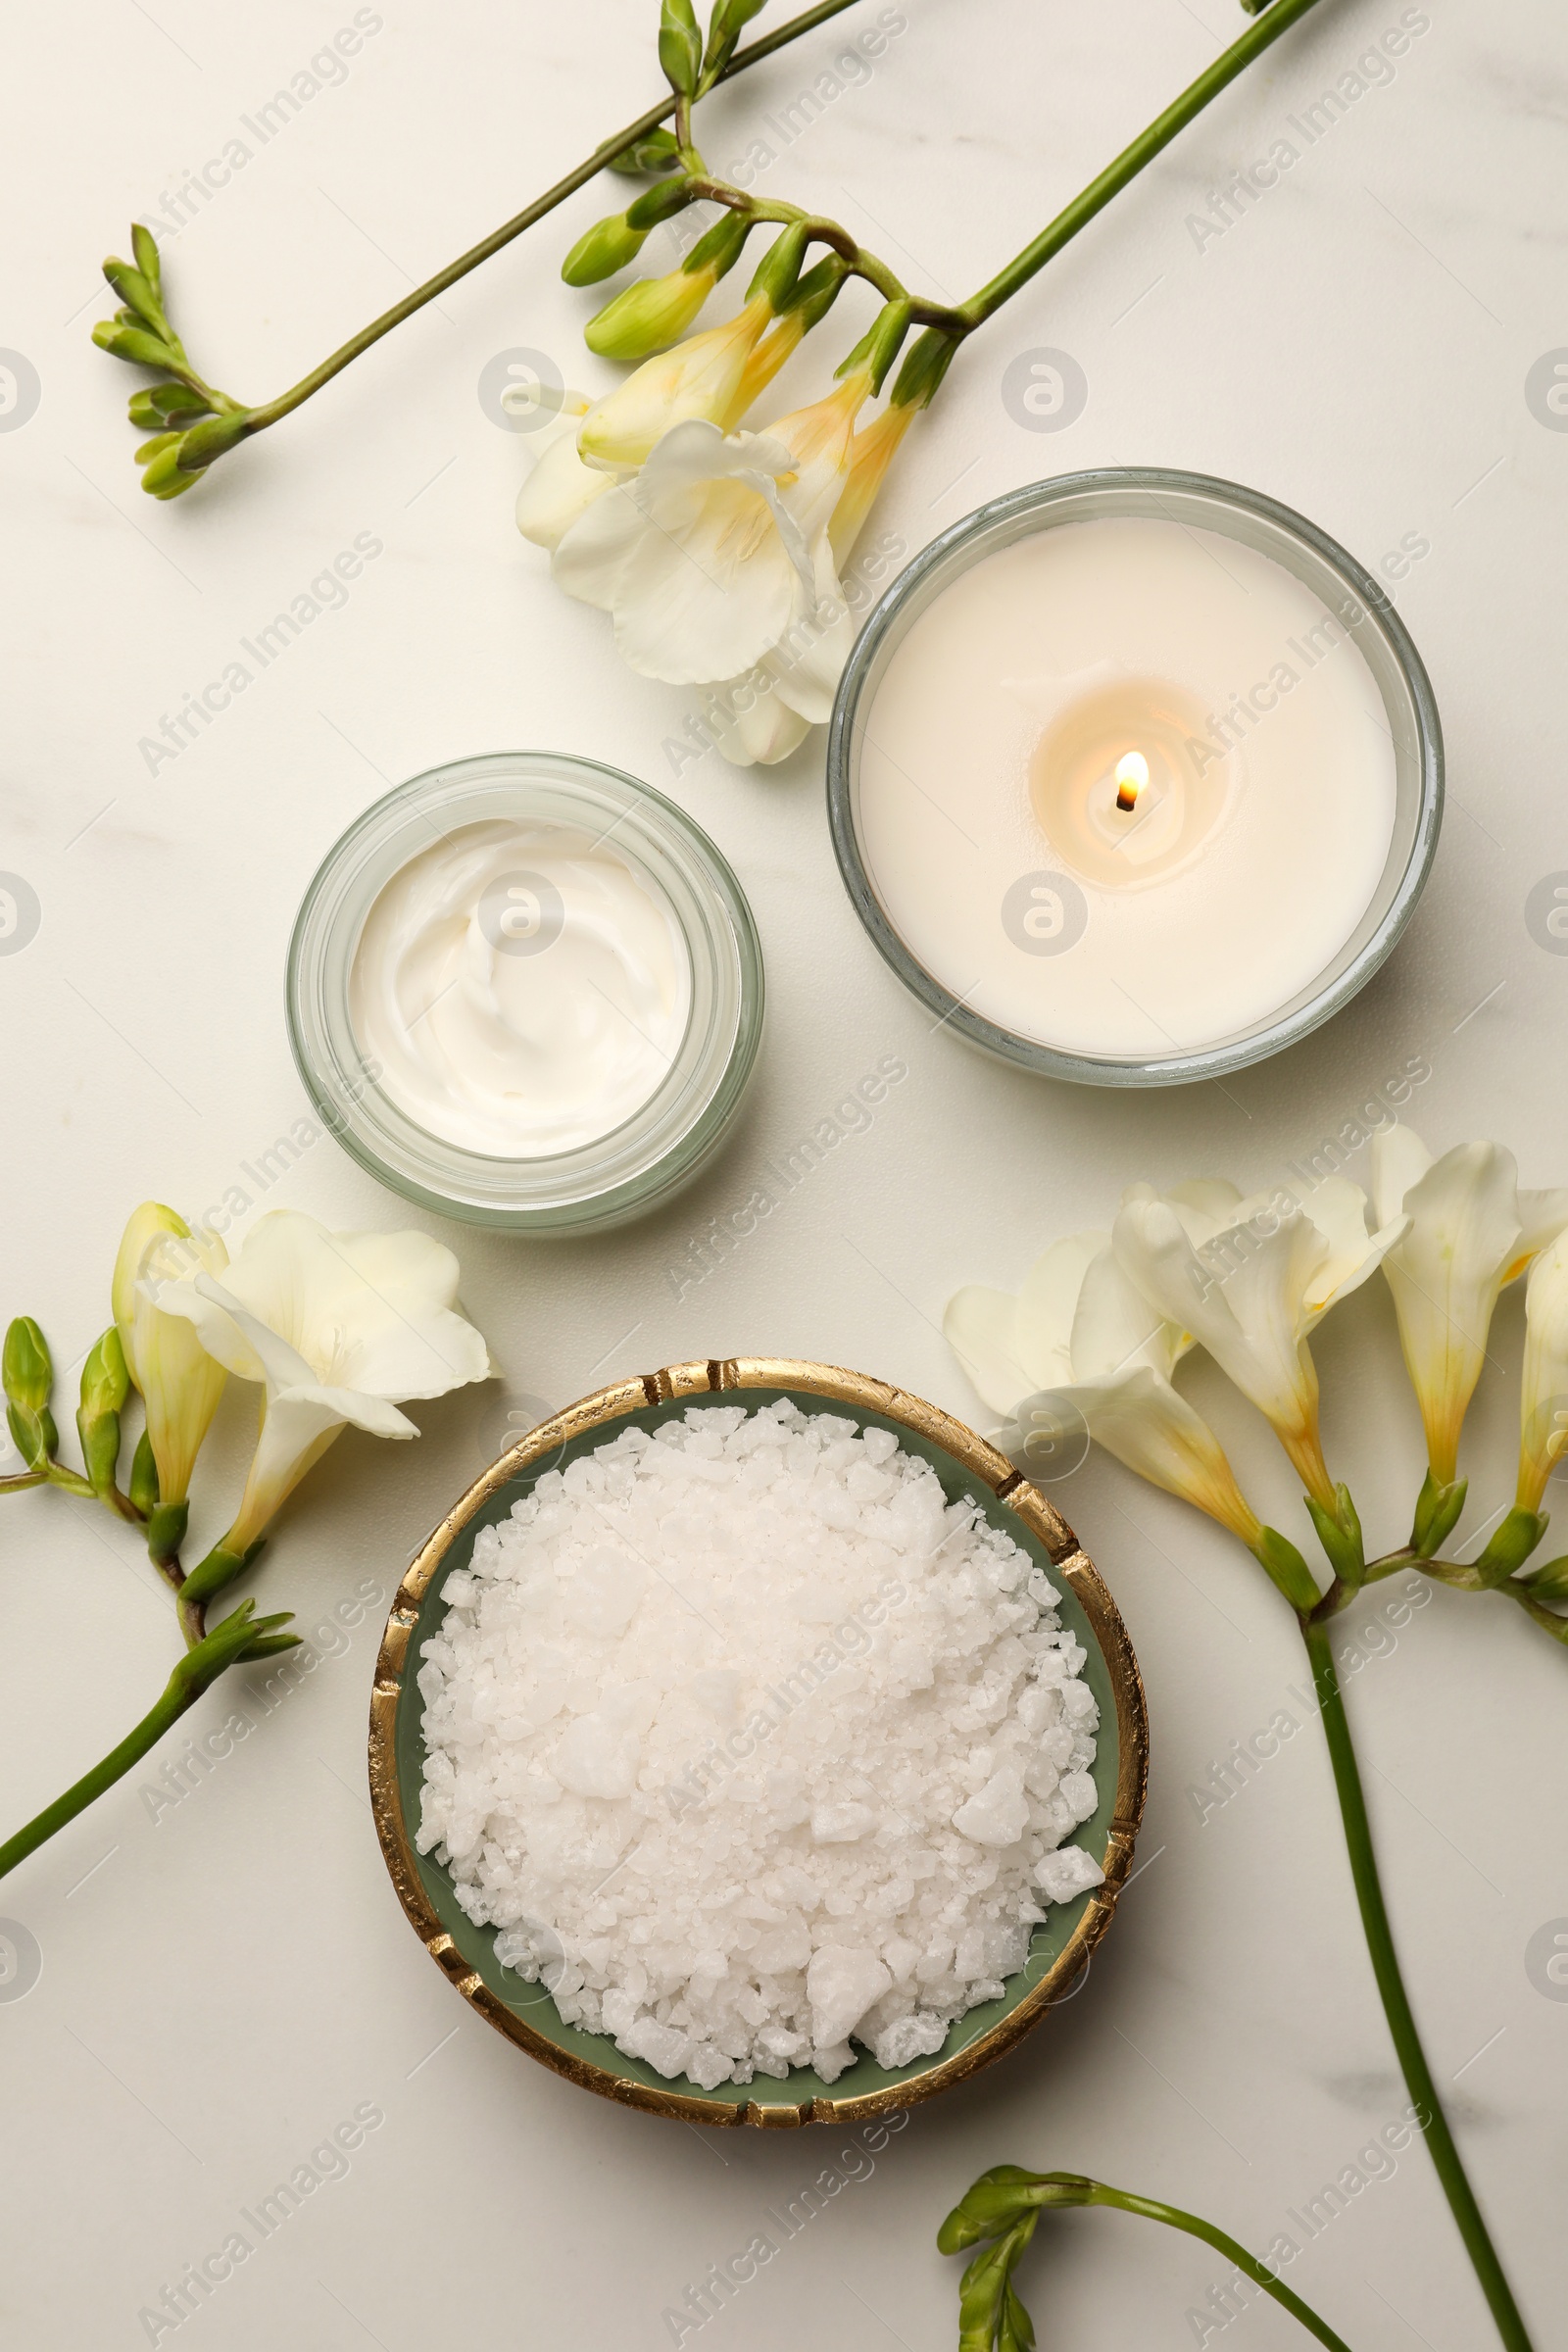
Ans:
[[[193,1232],[183,1216],[155,1200],[134,1211],[120,1240],[110,1303],[125,1369],[146,1404],[160,1505],[181,1505],[190,1494],[190,1472],[219,1409],[226,1369],[183,1315],[158,1305],[158,1294],[179,1277],[221,1275],[226,1265],[228,1251],[216,1232]]]

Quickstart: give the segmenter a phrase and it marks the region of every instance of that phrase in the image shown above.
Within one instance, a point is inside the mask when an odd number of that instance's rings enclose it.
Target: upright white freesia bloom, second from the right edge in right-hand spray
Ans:
[[[1408,1216],[1382,1272],[1432,1477],[1448,1484],[1497,1294],[1568,1225],[1568,1192],[1521,1192],[1514,1155],[1500,1143],[1458,1143],[1434,1160],[1408,1127],[1389,1127],[1373,1136],[1373,1202],[1385,1223]]]

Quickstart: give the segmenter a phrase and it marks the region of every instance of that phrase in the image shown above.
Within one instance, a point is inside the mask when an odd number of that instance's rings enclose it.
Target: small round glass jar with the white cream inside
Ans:
[[[477,1225],[583,1232],[708,1160],[762,1042],[741,884],[672,802],[592,760],[416,776],[327,851],[289,1042],[381,1183]]]

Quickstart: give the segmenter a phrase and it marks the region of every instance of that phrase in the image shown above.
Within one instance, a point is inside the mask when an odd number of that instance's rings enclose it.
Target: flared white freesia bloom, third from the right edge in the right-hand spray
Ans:
[[[1112,1244],[1135,1289],[1213,1355],[1267,1416],[1314,1501],[1333,1508],[1307,1334],[1401,1240],[1403,1218],[1366,1230],[1366,1195],[1331,1176],[1312,1214],[1286,1195],[1244,1200],[1232,1185],[1161,1197],[1133,1185]]]

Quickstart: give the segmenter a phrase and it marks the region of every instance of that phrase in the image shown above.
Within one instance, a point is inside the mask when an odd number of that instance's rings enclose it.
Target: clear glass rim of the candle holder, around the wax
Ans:
[[[1385,866],[1385,880],[1373,896],[1373,908],[1368,908],[1361,927],[1347,941],[1340,960],[1331,962],[1316,981],[1274,1014],[1234,1037],[1161,1058],[1079,1054],[1067,1047],[1023,1037],[987,1021],[985,1014],[973,1011],[961,997],[954,997],[903,941],[877,896],[860,844],[860,743],[870,706],[893,652],[919,614],[961,572],[969,572],[987,555],[1032,532],[1053,529],[1063,522],[1091,522],[1103,515],[1171,517],[1171,501],[1187,503],[1194,508],[1194,515],[1204,510],[1199,527],[1206,529],[1225,532],[1229,517],[1229,536],[1284,562],[1298,579],[1333,579],[1354,600],[1359,619],[1354,626],[1347,626],[1352,635],[1361,628],[1368,630],[1366,642],[1356,635],[1356,644],[1385,696],[1385,708],[1389,708],[1392,717],[1399,715],[1406,720],[1403,743],[1399,734],[1394,736],[1394,849]],[[1298,562],[1288,560],[1291,553],[1298,555]],[[1403,701],[1399,713],[1389,706],[1392,687],[1399,689]],[[938,1016],[940,1028],[954,1028],[971,1044],[999,1061],[1034,1070],[1041,1077],[1063,1077],[1088,1087],[1197,1084],[1244,1070],[1248,1063],[1265,1061],[1307,1037],[1340,1011],[1392,953],[1432,870],[1441,818],[1443,731],[1436,696],[1432,694],[1432,680],[1415,652],[1415,642],[1387,590],[1335,539],[1279,499],[1269,499],[1265,492],[1248,489],[1241,482],[1225,482],[1218,475],[1182,473],[1166,466],[1103,466],[1056,475],[1046,482],[1027,482],[1023,489],[990,499],[940,532],[872,607],[839,677],[827,731],[827,826],[832,849],[849,901],[882,960]]]

